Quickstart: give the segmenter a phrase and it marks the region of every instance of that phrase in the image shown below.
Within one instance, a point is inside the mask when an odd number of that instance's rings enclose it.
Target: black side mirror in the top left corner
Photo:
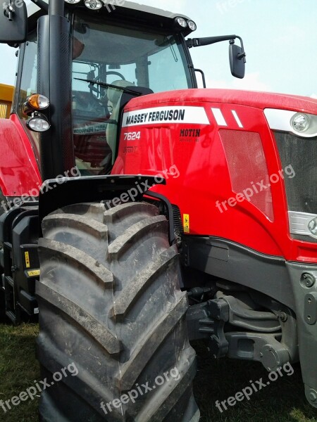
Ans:
[[[27,9],[23,0],[0,1],[0,43],[24,42],[27,37]]]

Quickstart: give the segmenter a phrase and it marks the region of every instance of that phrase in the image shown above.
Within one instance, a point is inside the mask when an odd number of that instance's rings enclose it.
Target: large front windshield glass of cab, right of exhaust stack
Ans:
[[[177,34],[110,25],[78,13],[73,36],[73,119],[76,163],[82,174],[102,174],[114,160],[122,91],[104,84],[153,92],[193,87]]]

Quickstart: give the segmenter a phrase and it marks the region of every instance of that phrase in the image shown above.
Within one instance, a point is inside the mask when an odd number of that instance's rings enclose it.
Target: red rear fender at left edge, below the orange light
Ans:
[[[35,151],[20,120],[0,120],[0,188],[4,196],[37,196],[42,184]]]

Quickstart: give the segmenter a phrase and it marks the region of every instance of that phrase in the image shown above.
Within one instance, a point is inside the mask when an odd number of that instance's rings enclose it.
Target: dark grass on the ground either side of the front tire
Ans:
[[[0,325],[0,399],[7,400],[40,381],[35,359],[36,324],[19,327]],[[254,392],[227,411],[216,408],[220,402],[250,385],[249,381],[268,381],[268,373],[254,362],[211,360],[206,347],[196,343],[198,374],[194,395],[201,409],[200,422],[317,422],[317,411],[306,403],[299,365],[292,376],[280,377],[266,388]],[[6,413],[0,407],[0,421],[37,422],[39,397],[27,399]],[[55,421],[54,421],[55,422]],[[58,421],[56,421],[58,422]],[[178,422],[178,421],[175,421]]]

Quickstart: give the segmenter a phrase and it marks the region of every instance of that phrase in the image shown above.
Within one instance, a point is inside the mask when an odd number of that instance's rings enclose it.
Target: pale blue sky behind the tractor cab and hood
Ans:
[[[192,49],[209,88],[317,96],[317,0],[143,0],[188,15],[192,37],[238,34],[247,52],[244,79],[231,76],[228,42]],[[15,50],[0,44],[0,83],[14,84]],[[5,65],[4,65],[5,63]]]

